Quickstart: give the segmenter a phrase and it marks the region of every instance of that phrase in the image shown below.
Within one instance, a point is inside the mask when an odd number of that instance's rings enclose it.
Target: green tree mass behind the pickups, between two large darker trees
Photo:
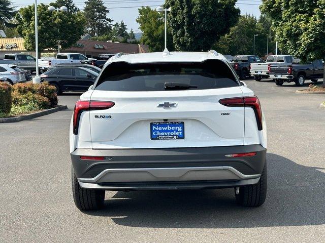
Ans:
[[[262,57],[267,54],[267,38],[273,35],[269,20],[266,16],[261,16],[258,21],[250,15],[240,16],[236,25],[212,48],[222,54],[252,55],[253,36],[258,34],[255,36],[255,55]],[[269,53],[274,51],[274,46],[272,39],[269,39]]]

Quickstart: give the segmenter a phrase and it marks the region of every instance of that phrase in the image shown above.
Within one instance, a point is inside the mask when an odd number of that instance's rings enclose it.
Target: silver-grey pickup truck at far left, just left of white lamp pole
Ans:
[[[0,64],[15,65],[31,72],[36,71],[36,58],[28,54],[5,54],[4,60],[0,60]]]

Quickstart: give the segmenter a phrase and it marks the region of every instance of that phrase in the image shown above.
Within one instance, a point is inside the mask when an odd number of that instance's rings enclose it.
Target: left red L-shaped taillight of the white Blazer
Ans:
[[[115,105],[111,101],[88,101],[88,100],[78,100],[73,112],[73,134],[78,134],[79,119],[83,111],[86,110],[106,110]]]

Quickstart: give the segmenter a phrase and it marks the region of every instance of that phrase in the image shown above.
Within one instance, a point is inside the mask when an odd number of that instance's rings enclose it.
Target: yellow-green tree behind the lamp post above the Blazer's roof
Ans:
[[[158,13],[149,7],[139,9],[139,17],[136,21],[143,32],[140,42],[148,45],[151,52],[161,52],[164,50],[164,19],[164,14]],[[167,48],[170,51],[175,50],[169,24],[167,25]]]

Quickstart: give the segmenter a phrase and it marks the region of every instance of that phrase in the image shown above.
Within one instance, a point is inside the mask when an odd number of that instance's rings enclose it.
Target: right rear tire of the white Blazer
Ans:
[[[258,183],[239,188],[239,193],[235,196],[236,203],[243,207],[259,207],[264,204],[267,194],[267,164],[265,161],[263,172]]]

